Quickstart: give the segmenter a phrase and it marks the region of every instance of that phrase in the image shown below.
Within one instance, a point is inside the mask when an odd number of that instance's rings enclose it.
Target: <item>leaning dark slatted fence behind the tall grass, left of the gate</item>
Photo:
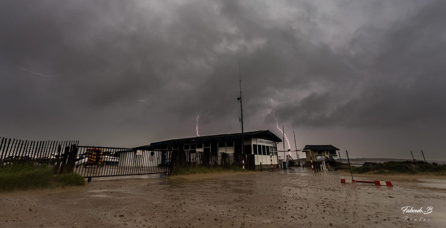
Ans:
[[[78,143],[77,140],[32,141],[0,137],[0,165],[60,166],[66,147]]]

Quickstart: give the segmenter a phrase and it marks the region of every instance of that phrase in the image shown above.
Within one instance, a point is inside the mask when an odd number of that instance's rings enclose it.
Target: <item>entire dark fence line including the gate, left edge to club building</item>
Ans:
[[[136,151],[132,148],[78,146],[79,141],[31,141],[0,137],[0,166],[45,165],[54,173],[76,172],[93,177],[161,174],[185,166],[255,169],[254,155],[187,150]]]

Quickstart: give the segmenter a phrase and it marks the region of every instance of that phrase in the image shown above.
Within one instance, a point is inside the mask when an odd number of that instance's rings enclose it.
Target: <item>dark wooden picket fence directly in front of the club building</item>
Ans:
[[[254,155],[242,155],[238,153],[201,152],[189,150],[173,150],[170,159],[170,171],[181,167],[242,167],[242,163],[249,170],[255,170]]]

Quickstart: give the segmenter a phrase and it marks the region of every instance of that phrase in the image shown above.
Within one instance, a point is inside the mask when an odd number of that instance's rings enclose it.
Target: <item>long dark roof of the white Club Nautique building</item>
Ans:
[[[167,144],[180,144],[180,143],[192,143],[192,142],[205,142],[205,141],[218,141],[218,140],[227,140],[227,139],[241,139],[242,133],[233,133],[233,134],[215,134],[215,135],[206,135],[206,136],[197,136],[191,138],[178,138],[178,139],[169,139],[160,142],[152,142],[149,145],[134,147],[133,149],[143,150],[146,148],[150,148],[156,145],[167,145]],[[272,140],[274,142],[282,142],[282,139],[277,137],[277,135],[273,134],[269,130],[257,130],[257,131],[248,131],[244,132],[244,138],[261,138]]]

